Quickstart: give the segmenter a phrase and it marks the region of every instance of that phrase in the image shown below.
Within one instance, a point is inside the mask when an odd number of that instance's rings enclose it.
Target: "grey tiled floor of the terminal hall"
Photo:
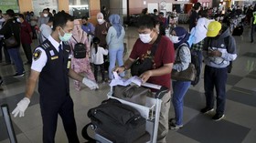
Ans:
[[[202,115],[199,109],[205,105],[203,77],[196,87],[190,87],[185,97],[184,128],[170,130],[167,136],[168,143],[255,143],[256,142],[256,46],[250,43],[249,28],[245,28],[243,36],[235,36],[238,46],[238,58],[233,63],[232,72],[227,83],[227,106],[225,118],[219,122],[211,120],[212,115]],[[131,52],[138,34],[133,27],[126,28],[125,43],[128,53]],[[36,42],[33,47],[36,47]],[[126,59],[128,56],[124,56]],[[25,56],[23,54],[23,59]],[[0,74],[4,77],[4,91],[0,92],[0,104],[7,103],[10,111],[24,96],[29,66],[26,67],[26,77],[14,78],[14,66],[0,65]],[[100,85],[100,90],[91,91],[83,87],[80,92],[74,90],[70,82],[71,97],[75,104],[80,142],[84,142],[80,131],[89,123],[86,116],[91,107],[98,106],[110,87]],[[19,143],[42,142],[42,120],[38,105],[38,93],[35,92],[27,108],[25,117],[12,117],[16,138]],[[5,129],[4,118],[0,111],[0,143],[9,142]],[[212,113],[213,114],[213,113]],[[170,117],[174,116],[171,107]],[[59,118],[56,133],[57,143],[66,143],[67,138]]]

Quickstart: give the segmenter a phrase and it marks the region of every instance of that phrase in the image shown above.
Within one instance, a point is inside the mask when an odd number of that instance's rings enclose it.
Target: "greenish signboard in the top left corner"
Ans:
[[[0,0],[0,9],[3,14],[5,14],[5,11],[8,9],[13,9],[16,13],[19,12],[17,0]]]

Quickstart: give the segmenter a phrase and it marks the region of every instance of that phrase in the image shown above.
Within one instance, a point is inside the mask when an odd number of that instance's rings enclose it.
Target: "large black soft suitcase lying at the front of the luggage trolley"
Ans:
[[[102,101],[88,111],[91,123],[103,130],[117,143],[132,143],[145,134],[145,118],[133,107],[116,99]]]

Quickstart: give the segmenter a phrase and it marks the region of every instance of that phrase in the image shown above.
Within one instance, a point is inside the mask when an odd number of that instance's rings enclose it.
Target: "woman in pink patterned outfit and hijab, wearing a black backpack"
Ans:
[[[87,39],[87,34],[81,29],[80,21],[74,20],[74,29],[72,31],[72,37],[69,40],[69,46],[74,49],[77,43],[82,43],[86,46],[86,57],[85,58],[75,58],[71,59],[71,68],[80,74],[85,74],[86,77],[95,81],[94,75],[91,71],[90,61],[89,61],[89,52],[91,51],[90,44]],[[73,54],[73,50],[71,50]],[[80,82],[74,80],[75,88],[80,91]]]

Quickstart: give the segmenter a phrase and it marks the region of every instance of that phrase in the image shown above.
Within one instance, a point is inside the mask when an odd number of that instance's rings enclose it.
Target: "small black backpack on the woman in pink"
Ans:
[[[84,58],[84,57],[86,57],[86,52],[87,52],[87,51],[86,51],[86,46],[85,46],[85,44],[78,42],[74,36],[72,36],[72,37],[73,37],[73,38],[75,39],[75,41],[77,42],[77,43],[75,44],[75,46],[74,46],[74,49],[73,49],[74,57],[75,57],[75,58]],[[83,33],[82,33],[82,36],[81,36],[81,37],[83,37]]]

